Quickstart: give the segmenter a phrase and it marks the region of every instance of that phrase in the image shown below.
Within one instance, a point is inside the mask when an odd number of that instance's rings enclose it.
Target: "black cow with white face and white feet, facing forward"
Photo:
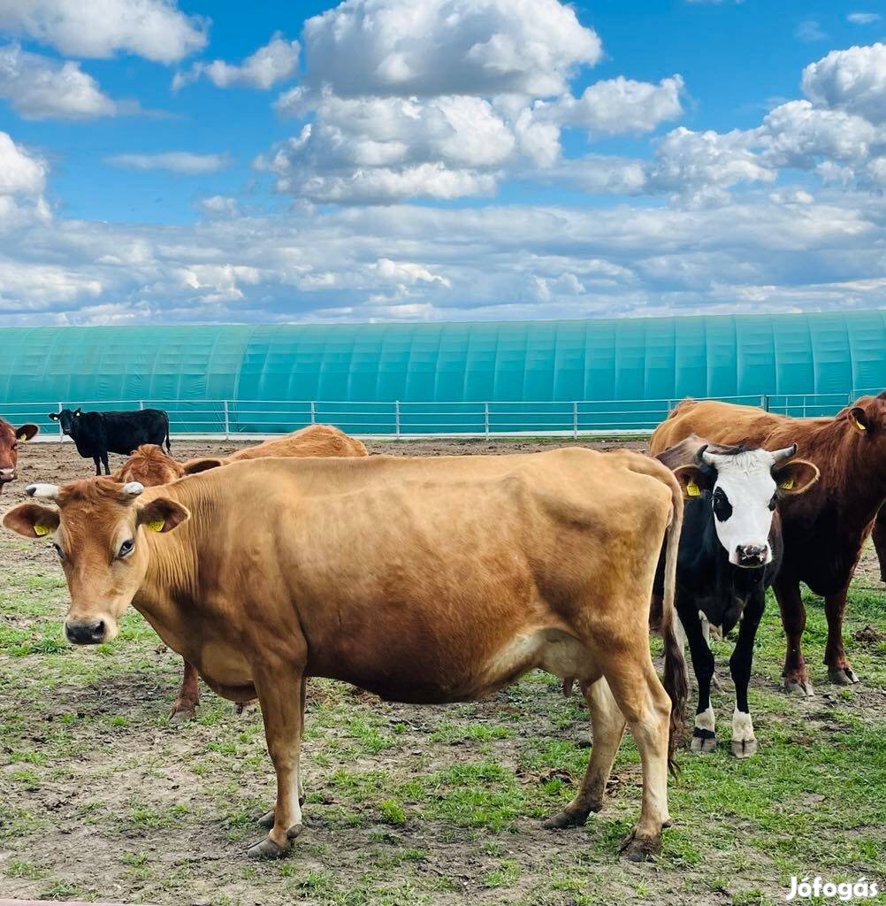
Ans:
[[[692,435],[656,457],[672,469],[686,498],[677,613],[699,684],[694,752],[712,752],[717,746],[710,706],[714,656],[706,622],[724,635],[738,624],[738,641],[729,659],[736,693],[732,752],[745,758],[757,751],[748,682],[766,590],[776,577],[783,550],[778,500],[802,494],[819,474],[812,463],[792,459],[795,452],[796,445],[775,452],[716,447]],[[656,593],[661,569],[659,573]]]

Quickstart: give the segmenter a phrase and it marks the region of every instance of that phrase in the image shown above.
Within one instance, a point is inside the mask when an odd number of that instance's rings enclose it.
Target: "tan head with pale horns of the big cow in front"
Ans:
[[[144,487],[105,478],[70,485],[29,485],[28,496],[56,504],[15,506],[6,528],[25,538],[48,538],[62,561],[71,595],[64,630],[69,641],[96,645],[117,635],[122,613],[148,570],[146,533],[171,532],[190,516],[174,500],[139,502]]]

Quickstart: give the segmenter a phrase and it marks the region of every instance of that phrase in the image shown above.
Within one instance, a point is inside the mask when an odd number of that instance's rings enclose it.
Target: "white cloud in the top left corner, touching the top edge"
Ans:
[[[205,22],[175,0],[0,0],[0,29],[71,56],[124,52],[157,63],[176,63],[206,43]]]

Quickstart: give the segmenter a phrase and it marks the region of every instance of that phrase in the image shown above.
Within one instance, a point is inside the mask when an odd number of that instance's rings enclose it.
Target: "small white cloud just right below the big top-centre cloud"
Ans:
[[[595,82],[580,98],[571,95],[548,105],[542,112],[564,126],[587,130],[592,138],[599,135],[642,135],[664,120],[682,113],[681,76],[662,79],[657,85],[634,82],[618,76]]]

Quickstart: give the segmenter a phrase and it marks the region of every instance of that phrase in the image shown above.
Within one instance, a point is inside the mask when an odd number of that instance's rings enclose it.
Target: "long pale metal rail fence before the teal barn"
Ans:
[[[871,391],[866,391],[871,392]],[[877,392],[874,390],[873,392]],[[834,415],[862,395],[791,393],[720,397],[799,418]],[[162,409],[171,432],[185,437],[267,437],[312,424],[331,424],[363,437],[507,437],[648,434],[679,402],[573,400],[565,402],[354,402],[334,400],[76,400],[5,403],[5,419],[40,426],[43,439],[62,437],[50,412]]]

